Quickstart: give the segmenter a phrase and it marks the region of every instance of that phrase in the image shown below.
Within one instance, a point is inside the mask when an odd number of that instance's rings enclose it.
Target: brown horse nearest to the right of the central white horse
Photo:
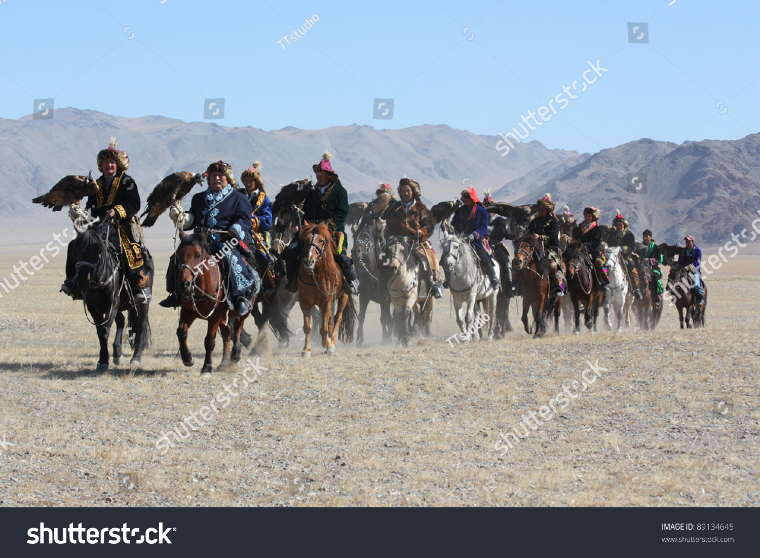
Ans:
[[[531,333],[527,325],[528,311],[533,309],[535,329],[534,339],[546,334],[546,320],[554,318],[554,329],[559,334],[559,308],[561,300],[553,296],[549,281],[549,262],[546,261],[540,240],[533,235],[515,239],[515,257],[512,267],[521,272],[519,279],[520,293],[523,297],[522,322],[525,333]],[[530,278],[529,278],[530,277]]]

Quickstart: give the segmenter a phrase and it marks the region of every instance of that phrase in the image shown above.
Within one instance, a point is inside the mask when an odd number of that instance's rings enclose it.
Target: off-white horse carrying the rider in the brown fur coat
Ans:
[[[430,289],[427,296],[421,296],[420,265],[412,252],[413,245],[407,244],[400,236],[391,236],[380,254],[379,262],[379,268],[388,271],[385,283],[394,309],[394,329],[403,347],[409,347],[413,331],[431,336],[430,323],[435,300],[430,296]]]

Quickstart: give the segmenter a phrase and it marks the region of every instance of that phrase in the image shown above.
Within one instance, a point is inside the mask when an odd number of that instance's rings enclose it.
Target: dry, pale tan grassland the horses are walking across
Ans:
[[[408,350],[339,346],[334,357],[303,360],[294,340],[166,455],[154,445],[160,431],[239,374],[199,377],[201,323],[190,335],[197,364],[185,369],[176,314],[157,305],[145,369],[91,373],[94,328],[81,303],[57,293],[63,258],[0,300],[0,436],[14,444],[0,455],[3,506],[760,502],[758,256],[711,277],[704,330],[679,331],[666,309],[654,332],[534,341],[515,331],[452,349],[442,341],[456,331],[445,298],[435,342]],[[0,277],[17,259],[0,261]],[[515,326],[516,314],[513,306]],[[374,306],[369,343],[379,340],[377,322]],[[499,458],[498,433],[597,358],[608,372]],[[728,414],[716,412],[721,400]]]

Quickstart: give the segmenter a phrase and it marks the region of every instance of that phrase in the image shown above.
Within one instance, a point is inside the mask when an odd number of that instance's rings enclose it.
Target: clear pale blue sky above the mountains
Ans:
[[[599,151],[758,132],[760,2],[669,2],[5,0],[0,116],[53,97],[193,121],[206,98],[224,98],[220,125],[496,135],[603,55],[609,71],[530,140]],[[315,14],[296,43],[277,43]],[[628,22],[648,23],[649,43],[629,43]],[[394,99],[394,119],[372,119],[376,97]]]

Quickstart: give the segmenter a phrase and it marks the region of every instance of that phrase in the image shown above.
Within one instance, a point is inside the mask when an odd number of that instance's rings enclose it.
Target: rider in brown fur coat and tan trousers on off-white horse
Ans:
[[[402,178],[398,181],[398,195],[401,199],[388,205],[380,217],[386,221],[385,236],[401,236],[413,245],[413,254],[417,262],[428,271],[432,295],[441,298],[441,271],[429,241],[435,223],[430,211],[420,199],[420,185],[413,179]]]

